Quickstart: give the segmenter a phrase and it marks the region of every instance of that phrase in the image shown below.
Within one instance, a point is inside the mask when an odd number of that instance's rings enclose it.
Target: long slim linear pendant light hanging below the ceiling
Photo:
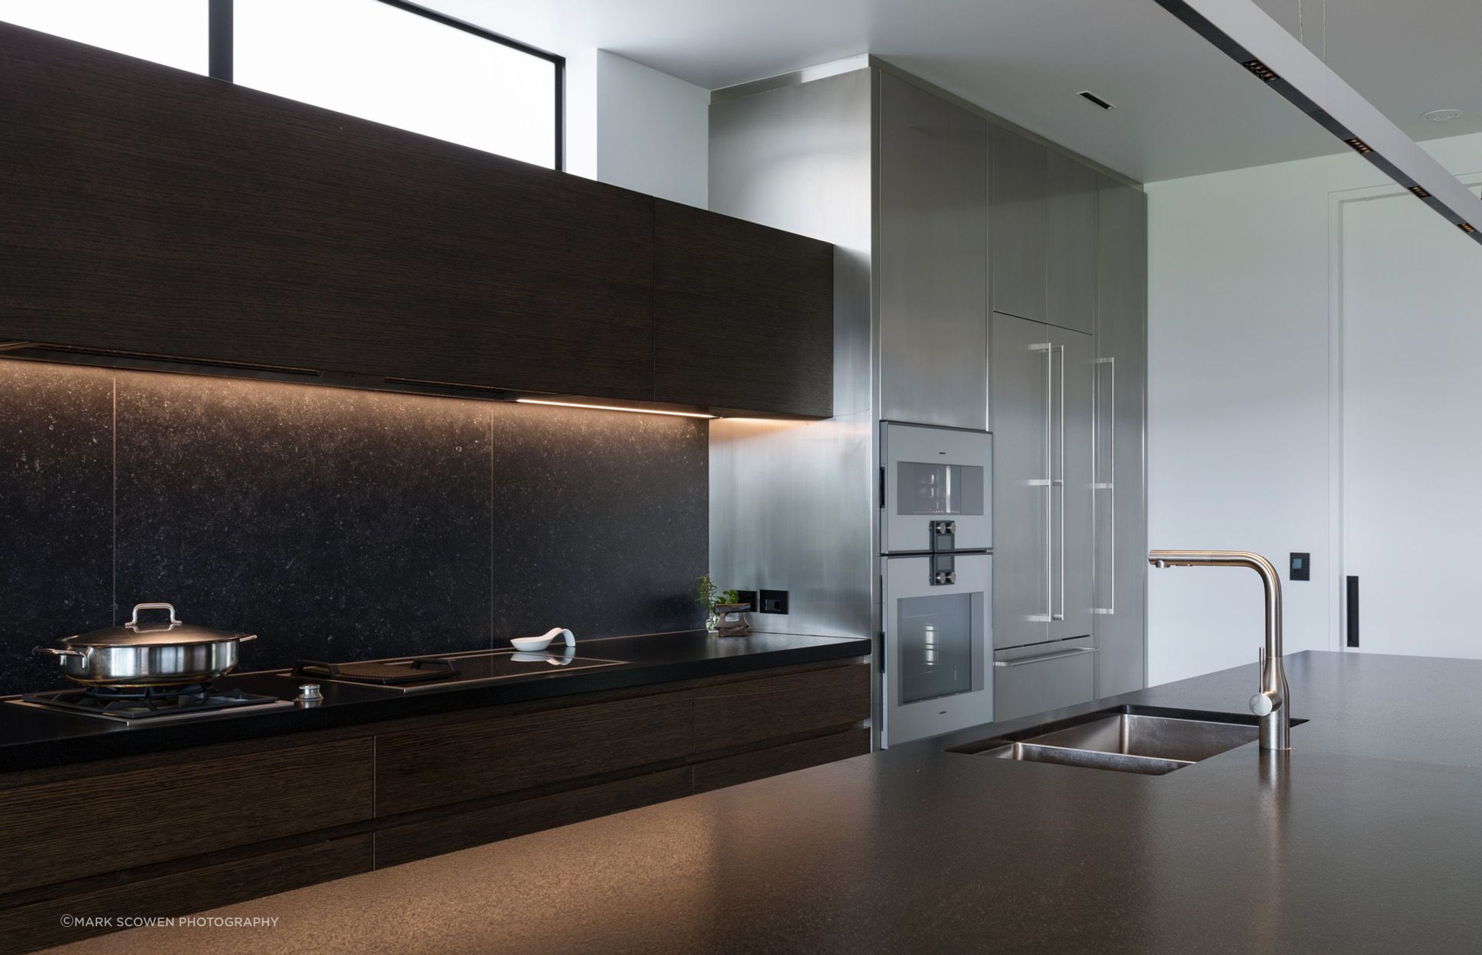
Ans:
[[[1254,0],[1156,0],[1258,82],[1482,243],[1482,199]],[[1260,130],[1254,130],[1260,132]]]

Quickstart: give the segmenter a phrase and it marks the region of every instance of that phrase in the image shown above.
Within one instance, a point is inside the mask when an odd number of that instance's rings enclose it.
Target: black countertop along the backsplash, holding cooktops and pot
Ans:
[[[799,663],[820,663],[865,655],[868,639],[753,633],[722,638],[704,630],[584,639],[582,657],[622,660],[621,666],[504,679],[483,687],[402,694],[375,687],[320,682],[325,703],[313,709],[283,707],[243,712],[196,722],[127,727],[89,716],[73,716],[0,701],[0,773],[129,756],[210,743],[249,740],[285,733],[305,733],[356,724],[422,716],[448,710],[519,703],[575,693],[645,687],[702,676],[720,676]],[[242,673],[216,681],[224,690],[292,700],[298,684],[273,670]]]

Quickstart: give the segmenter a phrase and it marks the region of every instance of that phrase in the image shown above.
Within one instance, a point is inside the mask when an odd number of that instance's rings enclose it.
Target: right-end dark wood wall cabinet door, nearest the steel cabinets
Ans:
[[[833,415],[833,246],[654,200],[655,397]]]

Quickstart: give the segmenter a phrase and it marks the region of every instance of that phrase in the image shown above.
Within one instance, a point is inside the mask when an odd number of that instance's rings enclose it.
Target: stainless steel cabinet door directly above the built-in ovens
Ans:
[[[986,430],[988,123],[877,83],[880,418]]]

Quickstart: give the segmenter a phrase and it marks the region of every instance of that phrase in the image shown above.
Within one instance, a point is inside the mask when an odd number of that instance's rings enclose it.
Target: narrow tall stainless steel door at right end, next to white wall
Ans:
[[[1095,365],[1097,695],[1147,682],[1147,202],[1100,178]]]

